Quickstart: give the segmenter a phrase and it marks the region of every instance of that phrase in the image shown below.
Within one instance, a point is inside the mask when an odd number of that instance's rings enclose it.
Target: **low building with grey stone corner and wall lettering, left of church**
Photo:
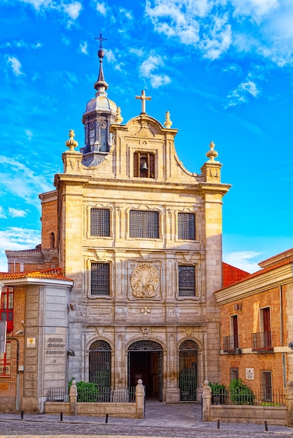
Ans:
[[[0,318],[7,321],[6,353],[0,353],[0,411],[41,412],[48,388],[64,386],[68,379],[73,281],[62,269],[43,269],[0,273],[0,282]]]

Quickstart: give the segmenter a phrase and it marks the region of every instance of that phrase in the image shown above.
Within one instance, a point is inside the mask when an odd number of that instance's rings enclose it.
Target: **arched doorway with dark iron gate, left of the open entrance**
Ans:
[[[89,381],[97,383],[100,390],[111,386],[111,346],[106,341],[90,345]]]

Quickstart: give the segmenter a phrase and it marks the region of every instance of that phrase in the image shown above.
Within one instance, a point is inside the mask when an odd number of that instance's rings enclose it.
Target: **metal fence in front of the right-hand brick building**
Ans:
[[[268,400],[263,390],[259,391],[231,391],[224,388],[217,388],[212,392],[212,404],[237,404],[253,406],[285,406],[285,397],[282,390],[271,391]]]

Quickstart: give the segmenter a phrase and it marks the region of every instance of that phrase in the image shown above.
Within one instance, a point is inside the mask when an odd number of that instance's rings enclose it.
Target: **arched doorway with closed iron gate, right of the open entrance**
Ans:
[[[198,344],[187,339],[179,346],[180,400],[196,400]]]

